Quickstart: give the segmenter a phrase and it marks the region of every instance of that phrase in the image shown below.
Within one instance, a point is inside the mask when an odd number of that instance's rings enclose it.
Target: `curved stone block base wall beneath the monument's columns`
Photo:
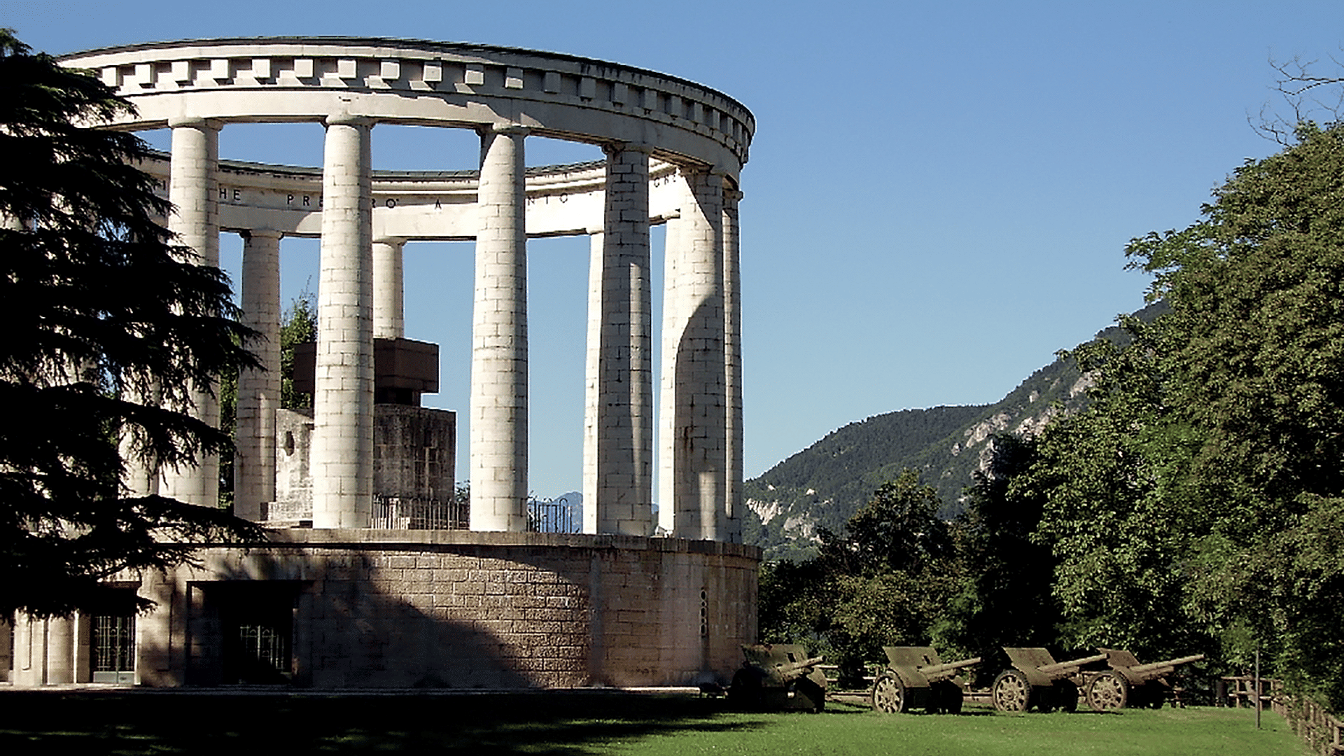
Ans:
[[[140,589],[160,603],[137,623],[141,685],[226,682],[222,607],[284,604],[292,683],[312,687],[727,682],[757,640],[753,546],[288,530],[200,557]]]

